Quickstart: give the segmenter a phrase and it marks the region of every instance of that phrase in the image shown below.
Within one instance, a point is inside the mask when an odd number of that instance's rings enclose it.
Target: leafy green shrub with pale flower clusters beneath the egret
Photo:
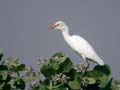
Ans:
[[[74,65],[69,57],[56,53],[40,59],[40,71],[35,72],[19,59],[2,57],[0,52],[0,90],[120,90],[120,80],[113,80],[109,65],[86,71],[83,64]]]

